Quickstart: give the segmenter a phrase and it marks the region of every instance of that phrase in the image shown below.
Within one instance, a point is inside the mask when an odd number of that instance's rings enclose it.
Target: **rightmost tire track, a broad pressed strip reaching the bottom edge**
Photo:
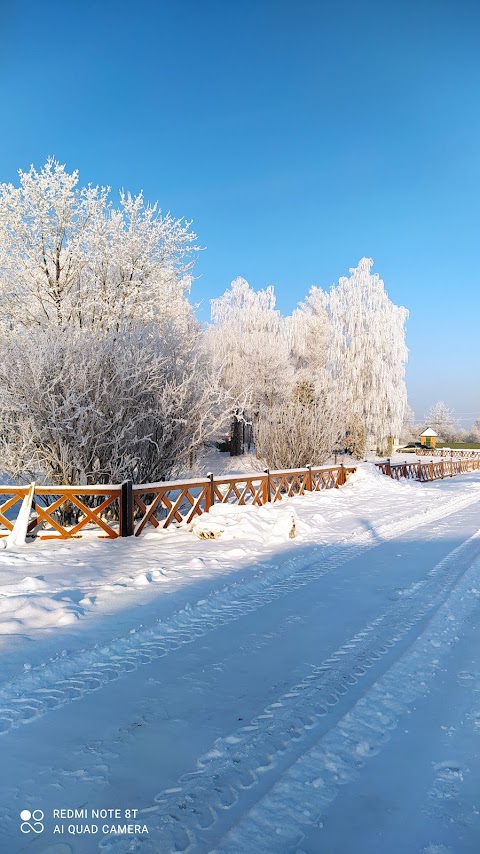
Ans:
[[[478,612],[471,585],[479,571],[476,561],[417,642],[209,854],[271,854],[272,835],[278,841],[275,851],[304,854],[303,829],[318,822],[340,787],[358,778],[368,759],[382,750],[399,719],[428,692],[440,668],[439,651],[457,643],[462,623]]]

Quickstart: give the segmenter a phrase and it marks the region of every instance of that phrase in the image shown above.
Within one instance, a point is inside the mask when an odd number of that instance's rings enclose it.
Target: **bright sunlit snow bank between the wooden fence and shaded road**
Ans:
[[[479,472],[427,485],[394,481],[364,464],[339,489],[262,507],[215,505],[191,525],[149,530],[139,539],[106,541],[92,534],[3,551],[0,648],[11,649],[16,637],[21,661],[27,641],[41,639],[54,648],[59,629],[62,642],[72,648],[82,643],[82,631],[93,621],[98,628],[100,618],[105,636],[114,636],[119,622],[128,625],[132,609],[137,618],[140,607],[155,608],[161,617],[167,600],[188,603],[199,585],[208,590],[235,572],[243,579],[272,571],[277,554],[305,545],[368,546],[447,515],[479,494]],[[199,538],[202,532],[205,539]],[[30,662],[37,647],[27,646]]]

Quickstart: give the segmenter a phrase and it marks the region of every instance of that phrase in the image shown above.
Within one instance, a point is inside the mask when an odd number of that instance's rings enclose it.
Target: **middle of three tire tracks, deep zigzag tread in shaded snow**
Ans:
[[[153,847],[153,843],[142,838],[136,842],[130,839],[130,847],[126,847],[124,840],[106,837],[100,843],[101,850],[108,854],[126,851],[148,854],[159,850],[164,854],[210,852],[228,827],[263,796],[265,788],[275,786],[281,775],[290,773],[288,769],[303,755],[308,756],[313,750],[315,761],[321,755],[328,765],[328,751],[319,754],[316,745],[325,739],[329,743],[330,730],[342,733],[349,751],[353,751],[354,768],[360,767],[365,758],[378,752],[389,727],[395,725],[392,710],[384,709],[378,714],[371,714],[368,708],[364,710],[358,750],[353,749],[352,733],[344,723],[348,714],[343,721],[342,716],[355,703],[362,707],[362,701],[358,702],[360,692],[375,692],[376,683],[388,681],[388,673],[398,669],[402,653],[408,656],[405,649],[415,646],[425,624],[444,607],[457,585],[465,586],[462,579],[479,557],[480,532],[477,532],[433,567],[424,580],[411,585],[408,598],[369,622],[329,659],[312,668],[309,676],[270,703],[249,725],[217,739],[201,757],[197,768],[179,779],[178,786],[155,797],[156,811],[153,812],[155,806],[146,811],[149,833],[155,839]],[[347,782],[351,769],[343,753],[340,760],[332,760],[330,764],[335,768],[332,775],[340,782]],[[316,789],[323,782],[312,786]],[[323,795],[322,791],[320,801]],[[316,792],[315,798],[318,798]],[[301,804],[302,801],[296,804],[297,813],[301,812]],[[253,841],[252,836],[252,847],[245,842],[243,847],[228,851],[271,852],[271,847],[260,849]],[[271,845],[271,834],[267,845]]]

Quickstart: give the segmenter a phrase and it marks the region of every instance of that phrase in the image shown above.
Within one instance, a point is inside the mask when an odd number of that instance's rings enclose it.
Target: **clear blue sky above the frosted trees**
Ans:
[[[193,219],[203,301],[290,313],[363,255],[417,417],[480,416],[477,0],[0,0],[0,181],[54,155]]]

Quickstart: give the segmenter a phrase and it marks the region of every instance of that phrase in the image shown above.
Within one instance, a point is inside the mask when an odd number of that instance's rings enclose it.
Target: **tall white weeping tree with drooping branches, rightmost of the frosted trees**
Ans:
[[[362,258],[330,291],[329,366],[347,437],[363,435],[384,451],[400,433],[406,406],[408,312],[391,302],[372,264]]]

